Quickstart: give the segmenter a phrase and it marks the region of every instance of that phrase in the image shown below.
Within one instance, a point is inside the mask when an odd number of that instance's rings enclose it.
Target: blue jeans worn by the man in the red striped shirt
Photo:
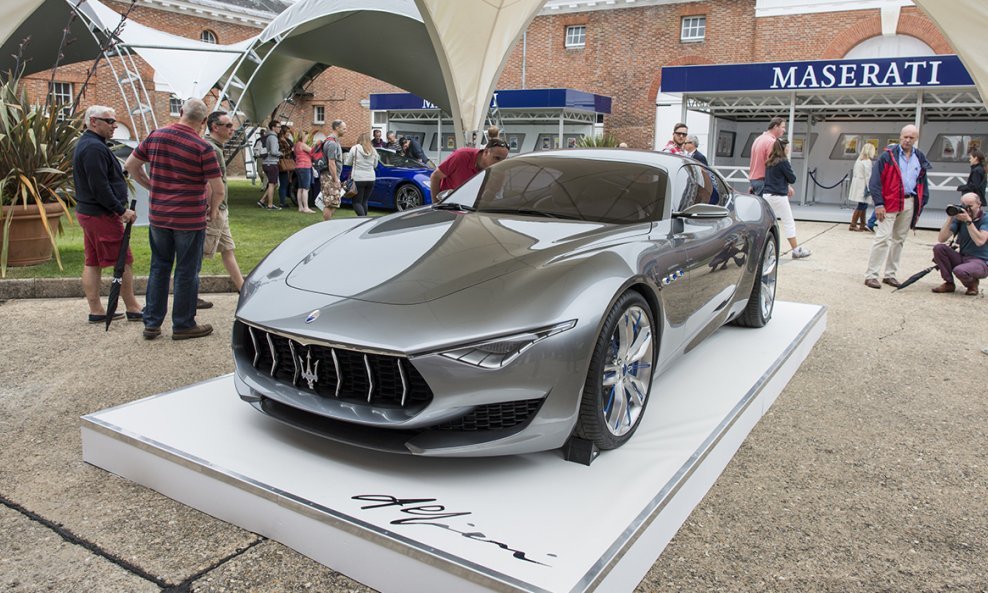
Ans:
[[[172,329],[196,326],[196,299],[199,298],[199,270],[206,230],[175,231],[152,226],[151,271],[144,306],[144,326],[161,327],[168,313],[168,282],[175,266]]]

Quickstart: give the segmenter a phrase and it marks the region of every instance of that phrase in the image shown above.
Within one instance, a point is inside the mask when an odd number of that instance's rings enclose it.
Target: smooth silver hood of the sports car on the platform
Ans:
[[[286,282],[335,297],[413,305],[649,228],[419,208],[333,237]]]

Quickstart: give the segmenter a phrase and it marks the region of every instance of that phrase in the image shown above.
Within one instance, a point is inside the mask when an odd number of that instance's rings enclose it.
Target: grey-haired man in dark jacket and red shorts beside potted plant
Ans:
[[[127,181],[123,168],[106,145],[117,129],[115,112],[109,107],[93,105],[86,110],[85,126],[86,131],[79,138],[72,157],[72,175],[75,179],[76,219],[85,240],[82,290],[89,303],[89,323],[101,323],[106,320],[106,309],[99,295],[100,271],[116,265],[123,240],[123,225],[136,220],[137,214],[127,207]],[[127,306],[127,321],[142,321],[141,305],[134,297],[133,261],[128,249],[120,296]]]

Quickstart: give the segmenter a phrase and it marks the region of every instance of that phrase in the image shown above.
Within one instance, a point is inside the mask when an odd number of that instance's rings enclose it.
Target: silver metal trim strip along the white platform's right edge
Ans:
[[[813,316],[813,319],[810,320],[801,332],[799,332],[799,335],[796,336],[792,343],[789,344],[789,347],[786,348],[786,350],[775,359],[772,366],[758,378],[758,381],[752,385],[751,389],[748,390],[737,405],[735,405],[734,408],[727,413],[724,419],[721,420],[720,424],[717,425],[717,428],[710,433],[710,436],[708,436],[707,439],[704,440],[699,447],[697,447],[696,451],[690,455],[690,458],[687,459],[686,462],[676,471],[672,479],[669,480],[661,490],[659,490],[658,494],[656,494],[647,505],[645,505],[642,512],[635,517],[634,521],[628,525],[621,536],[615,540],[613,544],[611,544],[606,552],[601,555],[601,559],[590,567],[590,570],[583,575],[583,578],[577,581],[577,584],[570,589],[570,593],[590,593],[597,590],[597,587],[599,587],[604,581],[604,578],[617,566],[618,562],[624,558],[624,555],[631,550],[634,543],[638,541],[638,538],[640,538],[645,533],[645,530],[652,525],[661,513],[662,509],[669,504],[672,497],[675,496],[680,489],[682,489],[683,485],[686,484],[686,481],[690,478],[690,476],[696,472],[696,470],[700,467],[701,462],[710,455],[714,447],[716,447],[721,439],[723,439],[727,434],[728,430],[734,426],[745,410],[751,406],[751,404],[758,397],[758,394],[761,392],[762,388],[764,388],[765,385],[767,385],[769,381],[771,381],[772,378],[778,374],[779,370],[786,363],[786,361],[789,360],[796,349],[803,345],[806,337],[811,332],[816,330],[817,325],[826,315],[826,312],[827,307],[821,305],[816,315]]]

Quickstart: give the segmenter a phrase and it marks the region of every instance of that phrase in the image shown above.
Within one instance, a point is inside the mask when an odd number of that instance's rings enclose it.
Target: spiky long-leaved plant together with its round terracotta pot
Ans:
[[[0,277],[7,266],[62,266],[55,233],[74,205],[72,156],[82,131],[63,105],[32,105],[19,73],[0,75]]]

